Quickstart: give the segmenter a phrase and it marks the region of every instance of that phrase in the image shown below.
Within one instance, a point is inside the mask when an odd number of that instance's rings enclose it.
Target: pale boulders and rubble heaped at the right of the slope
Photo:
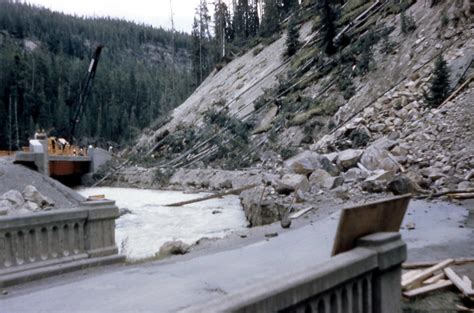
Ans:
[[[429,76],[418,76],[367,107],[312,150],[340,151],[345,181],[369,192],[445,192],[474,187],[472,86],[439,108],[424,103]],[[471,85],[473,83],[471,82]],[[368,140],[357,140],[360,134]]]

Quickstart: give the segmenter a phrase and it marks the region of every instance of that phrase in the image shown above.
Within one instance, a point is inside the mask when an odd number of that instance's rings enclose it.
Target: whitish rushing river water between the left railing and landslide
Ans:
[[[107,199],[115,200],[119,208],[131,211],[120,217],[115,227],[117,246],[129,261],[154,256],[169,240],[194,244],[200,238],[222,238],[247,226],[237,196],[167,207],[165,204],[208,194],[111,187],[80,188],[77,191],[85,197],[103,194]]]

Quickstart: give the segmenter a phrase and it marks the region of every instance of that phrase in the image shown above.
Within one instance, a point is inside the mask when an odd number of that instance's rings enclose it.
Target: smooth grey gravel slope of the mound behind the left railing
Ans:
[[[77,207],[84,197],[58,181],[23,165],[13,164],[12,158],[0,158],[0,195],[11,189],[22,191],[27,185],[56,202],[57,208]]]

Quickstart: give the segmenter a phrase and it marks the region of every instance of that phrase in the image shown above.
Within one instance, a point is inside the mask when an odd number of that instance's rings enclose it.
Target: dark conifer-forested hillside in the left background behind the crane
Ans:
[[[77,139],[127,142],[191,93],[190,35],[1,1],[0,150],[21,148],[37,128],[68,136],[98,45]]]

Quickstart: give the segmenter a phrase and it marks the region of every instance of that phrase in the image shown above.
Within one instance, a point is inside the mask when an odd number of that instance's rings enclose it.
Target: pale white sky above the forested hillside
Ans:
[[[25,0],[25,2],[66,14],[110,16],[171,28],[170,0]],[[176,30],[191,32],[194,10],[199,0],[172,0],[172,2]],[[209,10],[211,7],[209,4]]]

